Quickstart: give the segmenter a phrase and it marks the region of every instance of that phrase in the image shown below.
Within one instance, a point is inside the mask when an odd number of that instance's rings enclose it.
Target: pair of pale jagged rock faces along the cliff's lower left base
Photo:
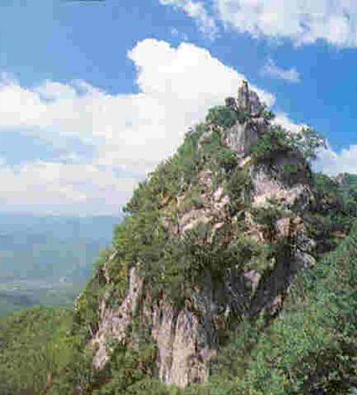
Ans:
[[[124,301],[116,307],[106,307],[105,298],[101,303],[99,329],[91,341],[95,350],[94,366],[104,368],[111,352],[108,340],[127,341],[127,328],[136,314],[143,325],[150,326],[156,342],[158,379],[182,388],[189,382],[207,380],[206,362],[217,351],[217,329],[214,326],[217,301],[212,279],[208,272],[205,275],[203,290],[177,311],[164,295],[153,303],[150,286],[144,285],[144,279],[137,277],[133,268]],[[139,295],[143,309],[136,311]],[[200,315],[195,311],[200,311]]]

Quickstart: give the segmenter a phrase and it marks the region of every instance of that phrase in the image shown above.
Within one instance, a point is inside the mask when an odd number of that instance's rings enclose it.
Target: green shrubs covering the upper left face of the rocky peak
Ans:
[[[215,240],[204,242],[208,240],[210,230],[199,226],[183,238],[166,232],[162,204],[165,202],[166,207],[172,205],[174,208],[176,197],[184,193],[183,211],[185,208],[200,208],[203,200],[199,173],[204,169],[211,170],[213,183],[223,184],[226,193],[232,197],[231,213],[243,209],[244,190],[249,186],[248,174],[239,169],[236,154],[223,144],[220,129],[236,120],[233,110],[223,106],[213,108],[207,115],[207,123],[200,123],[194,131],[187,133],[177,153],[161,163],[134,191],[133,198],[124,207],[127,215],[114,232],[117,260],[108,267],[116,289],[121,290],[119,293],[123,294],[126,286],[126,277],[122,273],[140,263],[145,277],[155,284],[152,291],[159,294],[165,290],[177,300],[177,293],[186,294],[199,281],[203,262],[211,262],[207,257],[222,255],[213,252],[217,248]],[[215,125],[211,133],[208,133],[208,123]],[[175,215],[173,210],[169,219],[172,223]],[[198,253],[199,245],[204,245],[206,251]],[[222,245],[222,251],[225,247]],[[230,264],[230,260],[225,262]],[[125,281],[121,281],[123,278]]]

